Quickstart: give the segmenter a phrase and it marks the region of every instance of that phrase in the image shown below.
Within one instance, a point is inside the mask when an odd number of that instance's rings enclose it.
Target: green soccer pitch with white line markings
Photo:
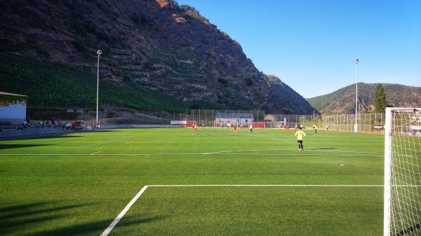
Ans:
[[[0,235],[382,235],[384,137],[305,132],[0,141]]]

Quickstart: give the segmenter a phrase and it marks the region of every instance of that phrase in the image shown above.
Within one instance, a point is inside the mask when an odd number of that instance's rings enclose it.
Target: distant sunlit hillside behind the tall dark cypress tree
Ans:
[[[377,83],[358,83],[359,111],[374,109]],[[410,87],[393,83],[382,83],[387,104],[396,107],[421,107],[421,87]],[[314,109],[323,114],[355,113],[356,86],[348,85],[328,95],[307,99]]]

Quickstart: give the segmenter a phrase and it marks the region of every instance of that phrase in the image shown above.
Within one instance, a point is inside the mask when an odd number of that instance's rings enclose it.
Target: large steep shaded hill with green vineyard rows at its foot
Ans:
[[[262,109],[313,113],[239,42],[173,0],[0,1],[2,92],[29,109]],[[286,96],[288,95],[288,96]]]

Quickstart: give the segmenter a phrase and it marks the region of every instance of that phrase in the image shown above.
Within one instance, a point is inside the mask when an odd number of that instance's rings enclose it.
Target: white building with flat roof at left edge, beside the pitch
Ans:
[[[27,96],[0,92],[0,125],[17,125],[26,119]]]

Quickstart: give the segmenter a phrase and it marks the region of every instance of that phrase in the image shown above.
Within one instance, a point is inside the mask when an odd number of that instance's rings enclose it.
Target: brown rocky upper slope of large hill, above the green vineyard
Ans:
[[[279,78],[258,71],[238,42],[173,0],[14,0],[0,8],[3,53],[96,71],[99,49],[100,73],[116,85],[202,108],[313,113]]]

